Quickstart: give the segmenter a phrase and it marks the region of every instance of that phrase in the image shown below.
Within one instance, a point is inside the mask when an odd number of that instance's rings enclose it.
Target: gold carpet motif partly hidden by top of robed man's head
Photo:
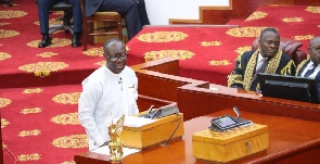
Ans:
[[[228,29],[226,34],[233,37],[258,37],[265,28],[266,27],[238,27]]]

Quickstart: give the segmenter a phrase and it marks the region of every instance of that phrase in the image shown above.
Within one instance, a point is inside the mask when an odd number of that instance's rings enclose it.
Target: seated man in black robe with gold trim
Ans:
[[[258,73],[295,75],[293,60],[279,49],[280,35],[274,28],[265,28],[260,34],[260,47],[247,51],[235,60],[235,67],[228,76],[228,86],[245,90],[259,90]]]

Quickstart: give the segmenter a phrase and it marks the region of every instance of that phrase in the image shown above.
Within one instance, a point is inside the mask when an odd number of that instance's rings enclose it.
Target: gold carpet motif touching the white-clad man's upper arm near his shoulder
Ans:
[[[61,93],[54,96],[52,101],[62,104],[78,104],[78,100],[81,92],[72,92],[72,93]]]

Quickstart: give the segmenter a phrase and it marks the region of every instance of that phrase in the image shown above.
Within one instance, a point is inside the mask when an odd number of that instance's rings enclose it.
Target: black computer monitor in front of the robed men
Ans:
[[[313,78],[259,73],[258,81],[264,97],[319,103]]]

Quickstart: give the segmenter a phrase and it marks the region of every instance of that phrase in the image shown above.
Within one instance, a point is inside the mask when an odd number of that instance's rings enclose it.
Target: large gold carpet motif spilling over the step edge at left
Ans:
[[[38,62],[38,63],[22,65],[18,67],[18,70],[25,71],[27,73],[34,73],[35,76],[38,76],[38,77],[46,77],[46,76],[50,76],[51,72],[57,72],[65,67],[68,67],[68,64],[64,62]]]

